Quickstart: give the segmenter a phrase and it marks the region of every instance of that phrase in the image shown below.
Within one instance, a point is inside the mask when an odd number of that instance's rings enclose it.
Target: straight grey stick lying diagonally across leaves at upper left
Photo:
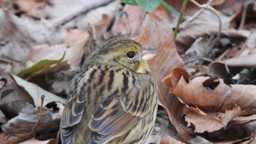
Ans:
[[[96,0],[96,1],[86,2],[86,4],[80,10],[72,13],[72,15],[68,15],[66,18],[60,20],[58,23],[55,23],[54,26],[64,25],[65,23],[69,22],[70,20],[77,18],[78,15],[89,12],[90,10],[93,10],[97,7],[105,6],[112,1],[116,1],[116,0]]]

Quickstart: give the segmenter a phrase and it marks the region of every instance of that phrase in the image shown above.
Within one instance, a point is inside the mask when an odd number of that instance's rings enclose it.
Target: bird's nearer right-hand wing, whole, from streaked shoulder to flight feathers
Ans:
[[[95,132],[90,144],[107,143],[129,132],[148,113],[150,96],[155,92],[154,85],[150,81],[140,84],[126,90],[121,88],[123,96],[108,96],[96,107],[89,122],[90,129]]]

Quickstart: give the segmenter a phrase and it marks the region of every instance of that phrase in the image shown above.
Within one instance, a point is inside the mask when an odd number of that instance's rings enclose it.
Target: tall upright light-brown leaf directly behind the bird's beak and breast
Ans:
[[[138,42],[141,45],[159,48],[157,52],[159,56],[148,61],[151,72],[159,87],[159,105],[162,105],[167,111],[170,121],[176,126],[181,140],[191,140],[192,135],[181,124],[181,111],[184,105],[178,101],[176,96],[170,94],[170,88],[162,83],[162,78],[165,75],[169,74],[172,69],[181,67],[183,64],[173,42],[173,30],[169,26],[159,23],[149,15],[146,15]]]

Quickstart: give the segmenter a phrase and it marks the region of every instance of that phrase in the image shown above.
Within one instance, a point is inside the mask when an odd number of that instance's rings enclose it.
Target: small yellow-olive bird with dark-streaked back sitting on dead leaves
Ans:
[[[91,53],[70,83],[59,143],[146,143],[158,101],[150,50],[119,38]]]

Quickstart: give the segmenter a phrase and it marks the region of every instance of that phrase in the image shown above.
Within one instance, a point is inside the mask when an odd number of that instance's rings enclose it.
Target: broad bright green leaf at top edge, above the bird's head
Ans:
[[[153,12],[157,9],[162,0],[135,0],[146,12]]]

